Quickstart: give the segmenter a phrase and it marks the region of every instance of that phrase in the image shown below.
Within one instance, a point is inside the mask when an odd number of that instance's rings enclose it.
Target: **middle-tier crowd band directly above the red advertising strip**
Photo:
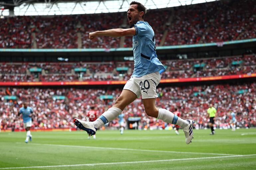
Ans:
[[[256,70],[256,56],[244,55],[222,58],[187,60],[163,60],[167,70],[162,79],[211,77],[251,74]],[[200,65],[200,67],[195,67]],[[40,72],[30,72],[40,68]],[[84,68],[86,71],[75,71]],[[118,70],[127,68],[128,70]],[[1,82],[54,82],[54,81],[111,81],[129,80],[133,72],[133,62],[102,63],[3,63],[0,66]],[[26,74],[29,73],[29,74]]]

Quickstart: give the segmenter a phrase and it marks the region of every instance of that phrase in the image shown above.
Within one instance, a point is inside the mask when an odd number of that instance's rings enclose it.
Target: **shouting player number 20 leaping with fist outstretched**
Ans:
[[[156,86],[160,83],[160,74],[165,71],[165,67],[157,58],[155,33],[149,23],[144,21],[146,11],[141,3],[132,1],[127,10],[130,28],[89,33],[90,39],[97,36],[133,36],[134,71],[114,105],[96,121],[86,122],[76,118],[73,121],[79,129],[94,135],[98,128],[117,118],[127,105],[142,95],[146,114],[167,123],[179,125],[185,133],[186,143],[189,144],[193,138],[194,122],[183,120],[172,112],[155,106],[156,97],[158,97]]]

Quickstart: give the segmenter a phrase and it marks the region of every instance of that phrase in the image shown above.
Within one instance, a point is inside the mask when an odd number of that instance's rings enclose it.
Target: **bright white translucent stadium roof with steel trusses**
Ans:
[[[124,12],[132,0],[0,0],[0,15],[71,15]],[[217,0],[137,0],[147,9],[168,8]]]

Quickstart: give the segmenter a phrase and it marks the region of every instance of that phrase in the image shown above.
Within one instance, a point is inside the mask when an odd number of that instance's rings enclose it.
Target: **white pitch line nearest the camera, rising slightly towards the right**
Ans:
[[[215,157],[199,157],[199,158],[183,158],[183,159],[164,159],[164,160],[149,160],[149,161],[133,161],[133,162],[110,162],[110,163],[90,163],[90,164],[74,164],[74,165],[8,167],[8,168],[0,168],[0,169],[24,169],[24,168],[52,168],[52,167],[68,167],[68,166],[70,167],[70,166],[113,165],[113,164],[147,163],[147,162],[167,162],[167,161],[180,161],[180,160],[193,160],[193,159],[229,158],[229,157],[240,157],[240,156],[256,156],[256,154],[252,154],[252,155],[215,156]]]

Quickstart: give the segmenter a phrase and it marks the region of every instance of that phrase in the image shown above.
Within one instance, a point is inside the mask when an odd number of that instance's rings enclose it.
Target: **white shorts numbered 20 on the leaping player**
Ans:
[[[139,98],[156,98],[158,97],[156,93],[157,85],[160,83],[160,73],[150,73],[142,77],[131,77],[130,80],[126,82],[123,89],[130,90],[134,92]]]

